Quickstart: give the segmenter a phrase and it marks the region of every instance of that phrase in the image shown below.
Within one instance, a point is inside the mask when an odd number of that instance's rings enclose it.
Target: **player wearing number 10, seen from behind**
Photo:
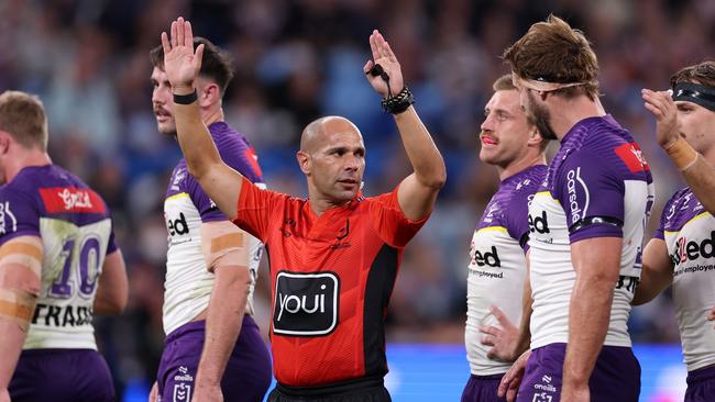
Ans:
[[[40,99],[0,94],[0,401],[114,401],[92,316],[129,286],[107,204],[47,155]]]

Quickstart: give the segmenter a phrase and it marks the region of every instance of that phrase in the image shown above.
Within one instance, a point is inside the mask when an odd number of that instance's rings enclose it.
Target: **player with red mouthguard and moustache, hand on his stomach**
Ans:
[[[528,337],[516,339],[519,331],[513,323],[521,322],[522,302],[530,306],[530,289],[524,288],[528,283],[527,210],[546,175],[548,141],[527,119],[512,76],[498,78],[493,89],[484,108],[480,159],[497,168],[501,183],[472,236],[464,332],[471,377],[463,402],[504,400],[497,397],[499,381],[528,348]],[[504,346],[495,345],[499,342],[515,345],[506,346],[509,350],[503,355]]]

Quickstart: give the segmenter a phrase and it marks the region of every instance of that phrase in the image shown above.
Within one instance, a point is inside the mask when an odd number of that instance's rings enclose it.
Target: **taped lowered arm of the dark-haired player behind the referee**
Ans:
[[[195,401],[220,394],[221,378],[241,332],[249,287],[248,234],[229,221],[201,224],[206,265],[215,273],[206,320],[206,339],[199,360]]]

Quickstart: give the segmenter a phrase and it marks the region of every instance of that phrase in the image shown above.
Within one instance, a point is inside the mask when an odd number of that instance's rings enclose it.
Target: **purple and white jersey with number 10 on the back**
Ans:
[[[97,349],[92,305],[117,249],[105,201],[55,165],[26,167],[0,187],[0,245],[40,236],[42,287],[23,349]]]

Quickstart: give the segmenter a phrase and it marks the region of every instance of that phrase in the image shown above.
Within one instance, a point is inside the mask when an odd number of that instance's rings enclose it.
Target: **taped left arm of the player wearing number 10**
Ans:
[[[38,236],[18,236],[0,246],[0,395],[8,391],[30,328],[43,254]]]

